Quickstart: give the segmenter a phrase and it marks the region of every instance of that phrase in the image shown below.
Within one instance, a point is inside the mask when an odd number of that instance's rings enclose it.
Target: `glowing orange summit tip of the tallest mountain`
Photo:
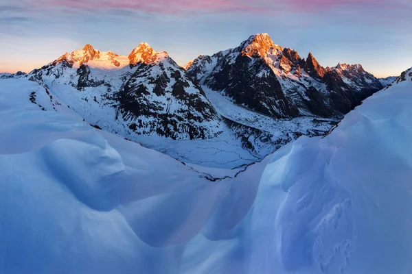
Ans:
[[[249,57],[275,54],[275,51],[283,51],[283,48],[276,45],[268,34],[255,34],[240,45],[242,55]]]

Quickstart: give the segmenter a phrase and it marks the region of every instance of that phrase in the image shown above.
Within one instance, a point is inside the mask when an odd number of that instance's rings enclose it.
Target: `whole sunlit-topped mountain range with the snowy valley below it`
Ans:
[[[85,45],[31,73],[0,75],[10,77],[44,86],[54,105],[95,127],[183,162],[232,168],[325,134],[383,88],[359,64],[323,68],[267,34],[184,68],[142,42],[129,55]]]

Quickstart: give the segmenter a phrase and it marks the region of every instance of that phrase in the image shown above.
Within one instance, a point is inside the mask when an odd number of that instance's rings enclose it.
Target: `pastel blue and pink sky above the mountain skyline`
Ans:
[[[179,64],[267,32],[323,66],[378,77],[412,66],[411,0],[0,0],[0,72],[31,71],[90,43],[128,55],[139,42]]]

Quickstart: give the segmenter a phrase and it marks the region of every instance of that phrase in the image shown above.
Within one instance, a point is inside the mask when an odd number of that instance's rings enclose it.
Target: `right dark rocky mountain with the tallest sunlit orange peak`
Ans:
[[[273,116],[343,116],[383,88],[360,65],[323,68],[309,53],[301,59],[268,34],[256,34],[235,49],[199,56],[187,73],[248,108]]]

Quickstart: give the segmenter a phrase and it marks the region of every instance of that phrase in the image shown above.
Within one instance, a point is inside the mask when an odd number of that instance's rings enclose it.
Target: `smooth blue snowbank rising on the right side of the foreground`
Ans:
[[[253,205],[253,273],[412,273],[411,104],[400,82],[275,153]]]

